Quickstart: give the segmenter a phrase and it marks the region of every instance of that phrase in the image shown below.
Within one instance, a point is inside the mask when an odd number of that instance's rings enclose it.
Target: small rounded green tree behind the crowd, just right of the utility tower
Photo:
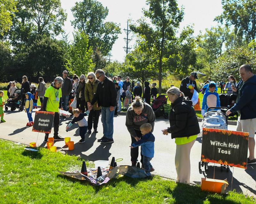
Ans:
[[[143,94],[144,82],[158,74],[150,54],[143,52],[140,47],[136,47],[131,53],[126,55],[121,71],[123,76],[128,76],[141,82]]]

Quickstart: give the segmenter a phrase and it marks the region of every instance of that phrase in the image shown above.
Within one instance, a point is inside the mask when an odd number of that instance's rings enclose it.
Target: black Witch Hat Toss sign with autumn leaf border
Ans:
[[[249,133],[203,128],[201,161],[246,169]]]

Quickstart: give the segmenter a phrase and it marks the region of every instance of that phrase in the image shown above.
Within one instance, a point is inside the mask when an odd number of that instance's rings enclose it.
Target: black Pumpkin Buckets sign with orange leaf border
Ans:
[[[33,132],[51,133],[54,112],[36,111],[36,116],[33,125]]]

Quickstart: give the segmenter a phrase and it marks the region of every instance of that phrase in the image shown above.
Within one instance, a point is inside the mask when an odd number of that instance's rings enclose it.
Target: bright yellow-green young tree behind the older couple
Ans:
[[[81,75],[93,71],[92,48],[87,49],[88,43],[89,39],[84,31],[74,33],[74,41],[69,50],[70,58],[66,64],[69,72]]]

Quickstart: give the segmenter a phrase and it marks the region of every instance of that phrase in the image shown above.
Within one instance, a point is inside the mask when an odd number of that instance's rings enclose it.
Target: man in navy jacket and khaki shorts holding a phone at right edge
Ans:
[[[249,133],[249,157],[247,164],[256,164],[254,157],[256,130],[256,76],[252,73],[252,67],[249,64],[243,64],[239,68],[239,74],[242,78],[237,87],[231,85],[233,93],[237,95],[235,105],[226,112],[226,115],[237,111],[240,116],[237,120],[236,131]]]

